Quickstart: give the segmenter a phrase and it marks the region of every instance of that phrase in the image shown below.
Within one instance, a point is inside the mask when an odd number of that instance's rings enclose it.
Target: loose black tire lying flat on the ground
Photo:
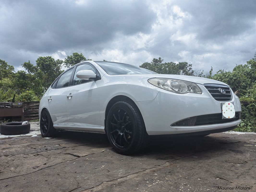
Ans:
[[[7,122],[0,125],[0,133],[3,135],[20,135],[30,132],[30,123],[22,125],[22,122]]]

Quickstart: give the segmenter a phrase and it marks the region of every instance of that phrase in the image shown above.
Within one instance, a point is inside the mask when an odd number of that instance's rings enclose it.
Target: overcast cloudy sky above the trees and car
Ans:
[[[0,59],[20,70],[73,52],[136,66],[162,57],[232,70],[256,51],[256,1],[0,1]]]

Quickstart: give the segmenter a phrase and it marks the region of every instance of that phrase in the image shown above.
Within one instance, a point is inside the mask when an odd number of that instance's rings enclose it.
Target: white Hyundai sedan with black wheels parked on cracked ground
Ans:
[[[39,105],[43,137],[58,129],[106,133],[121,154],[149,135],[208,135],[234,129],[241,104],[220,81],[157,74],[133,65],[84,61],[63,72]]]

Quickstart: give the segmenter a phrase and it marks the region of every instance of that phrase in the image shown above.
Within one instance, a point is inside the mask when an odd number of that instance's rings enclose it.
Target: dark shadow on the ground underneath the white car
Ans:
[[[89,142],[91,147],[99,145],[111,146],[106,134],[84,133],[63,131],[59,133],[58,138],[65,139],[70,143]],[[183,137],[162,137],[151,136],[148,147],[139,153],[132,154],[133,157],[145,157],[153,159],[172,159],[175,157],[189,156],[196,152],[225,152],[228,150],[227,143],[237,142],[235,138],[227,136],[217,136],[210,134],[208,136],[183,136]],[[94,146],[95,144],[95,146]]]

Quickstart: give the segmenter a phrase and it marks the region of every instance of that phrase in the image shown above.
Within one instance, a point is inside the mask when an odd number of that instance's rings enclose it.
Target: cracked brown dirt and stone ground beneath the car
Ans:
[[[253,192],[255,137],[153,137],[146,151],[131,156],[117,154],[104,134],[0,138],[0,191]]]

